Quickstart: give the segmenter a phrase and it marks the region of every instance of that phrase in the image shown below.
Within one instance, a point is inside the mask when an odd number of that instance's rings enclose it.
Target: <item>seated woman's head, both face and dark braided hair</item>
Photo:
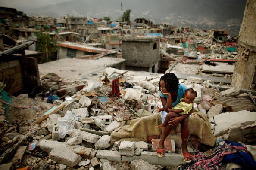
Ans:
[[[159,90],[162,93],[171,93],[179,88],[179,80],[174,73],[166,73],[160,78]]]

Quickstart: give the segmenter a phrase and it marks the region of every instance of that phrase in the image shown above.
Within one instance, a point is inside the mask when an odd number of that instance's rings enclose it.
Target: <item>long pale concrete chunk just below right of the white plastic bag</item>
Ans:
[[[69,130],[69,131],[67,131],[67,134],[69,134],[72,137],[81,136],[84,141],[89,142],[89,143],[96,143],[97,140],[100,139],[99,135],[91,134],[91,133],[88,133],[85,131],[80,131],[78,129]]]

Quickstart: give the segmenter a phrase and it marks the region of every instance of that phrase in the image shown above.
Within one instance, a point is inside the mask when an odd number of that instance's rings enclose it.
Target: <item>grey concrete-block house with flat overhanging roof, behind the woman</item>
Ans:
[[[162,36],[120,37],[122,57],[126,59],[126,69],[157,73],[159,39],[161,38]]]

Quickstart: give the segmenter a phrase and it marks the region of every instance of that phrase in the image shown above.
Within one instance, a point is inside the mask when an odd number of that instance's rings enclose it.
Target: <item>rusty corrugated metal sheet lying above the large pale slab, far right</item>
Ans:
[[[251,102],[250,97],[216,97],[212,100],[214,105],[222,104],[227,112],[238,112],[241,110],[256,111],[256,106]]]

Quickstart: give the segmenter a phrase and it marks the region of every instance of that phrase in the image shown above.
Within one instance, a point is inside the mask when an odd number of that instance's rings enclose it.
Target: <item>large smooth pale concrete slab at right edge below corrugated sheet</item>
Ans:
[[[215,128],[214,135],[220,136],[223,131],[228,129],[232,124],[245,123],[247,121],[256,121],[256,112],[249,112],[247,110],[242,110],[238,112],[226,112],[209,118],[209,121],[215,122],[217,126]]]

